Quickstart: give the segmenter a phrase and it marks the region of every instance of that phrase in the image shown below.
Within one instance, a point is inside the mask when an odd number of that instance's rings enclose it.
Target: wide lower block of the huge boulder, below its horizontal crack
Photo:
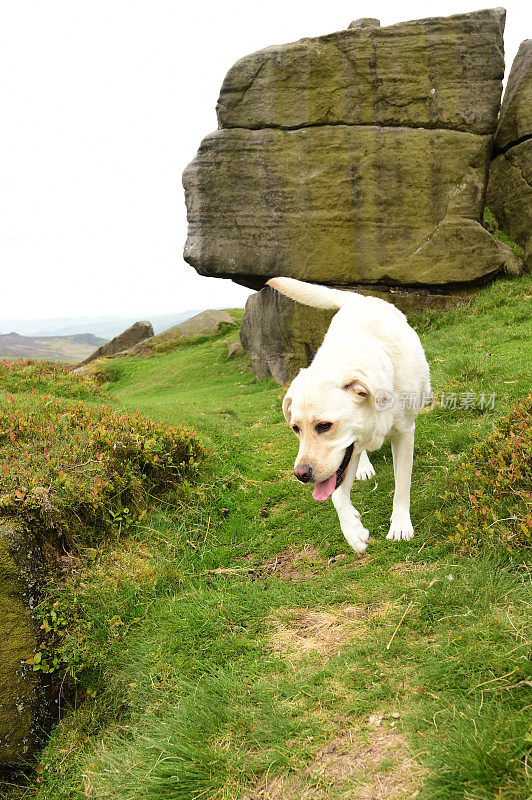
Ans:
[[[502,267],[478,222],[489,147],[442,130],[217,131],[184,174],[185,259],[251,288],[478,281]]]

